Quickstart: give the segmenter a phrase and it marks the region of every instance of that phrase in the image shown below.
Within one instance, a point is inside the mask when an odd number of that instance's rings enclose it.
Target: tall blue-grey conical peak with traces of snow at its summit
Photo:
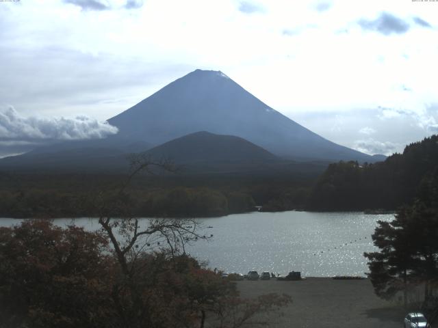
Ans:
[[[114,139],[155,145],[208,131],[242,137],[288,159],[376,161],[309,131],[220,71],[195,70],[108,122],[119,129]]]

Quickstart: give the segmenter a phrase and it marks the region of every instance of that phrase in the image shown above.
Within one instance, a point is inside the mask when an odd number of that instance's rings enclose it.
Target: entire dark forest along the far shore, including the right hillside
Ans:
[[[410,204],[438,170],[438,136],[411,143],[374,164],[333,163],[285,172],[137,176],[125,195],[138,217],[211,217],[262,206],[281,210],[395,210]],[[124,174],[0,172],[0,217],[96,216]],[[116,213],[111,213],[115,215]]]

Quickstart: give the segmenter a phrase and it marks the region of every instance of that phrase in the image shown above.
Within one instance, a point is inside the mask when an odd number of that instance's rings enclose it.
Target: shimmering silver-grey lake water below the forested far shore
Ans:
[[[207,261],[211,269],[225,272],[285,275],[293,270],[308,277],[363,276],[368,271],[363,252],[376,250],[371,240],[376,222],[392,219],[394,215],[295,211],[199,219],[205,229],[201,234],[214,236],[187,250]],[[0,226],[16,223],[19,220],[0,219]],[[56,219],[55,223],[63,226],[71,219]],[[99,229],[96,219],[75,219],[75,224]]]

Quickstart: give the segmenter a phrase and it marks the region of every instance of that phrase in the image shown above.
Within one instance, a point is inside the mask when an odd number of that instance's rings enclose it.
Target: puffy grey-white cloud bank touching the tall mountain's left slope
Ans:
[[[115,126],[86,116],[25,118],[14,107],[0,109],[0,141],[102,139],[117,132]]]

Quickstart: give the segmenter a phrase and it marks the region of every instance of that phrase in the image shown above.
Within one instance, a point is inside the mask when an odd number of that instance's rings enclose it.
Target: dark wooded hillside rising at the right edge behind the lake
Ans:
[[[312,210],[394,210],[409,204],[438,172],[438,136],[411,143],[384,162],[329,165],[309,198]]]

